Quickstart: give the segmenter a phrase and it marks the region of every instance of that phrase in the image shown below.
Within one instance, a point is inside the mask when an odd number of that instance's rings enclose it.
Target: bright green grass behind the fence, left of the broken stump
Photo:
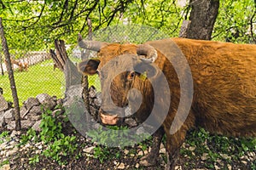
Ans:
[[[29,97],[44,93],[64,97],[64,74],[59,69],[53,70],[52,59],[31,65],[28,71],[15,71],[15,84],[20,104]],[[0,88],[3,88],[4,99],[13,101],[7,73],[0,77]]]

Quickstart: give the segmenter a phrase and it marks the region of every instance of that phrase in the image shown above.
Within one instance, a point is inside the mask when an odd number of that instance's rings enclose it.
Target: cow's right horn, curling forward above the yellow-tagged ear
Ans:
[[[157,59],[157,51],[154,49],[154,47],[152,47],[148,44],[138,45],[137,54],[146,55],[147,56],[146,59],[142,58],[146,62],[153,63]]]

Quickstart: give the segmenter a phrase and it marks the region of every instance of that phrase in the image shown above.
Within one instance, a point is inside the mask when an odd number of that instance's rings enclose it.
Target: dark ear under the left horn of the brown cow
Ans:
[[[79,63],[79,71],[86,75],[94,75],[100,62],[100,59],[85,59]]]

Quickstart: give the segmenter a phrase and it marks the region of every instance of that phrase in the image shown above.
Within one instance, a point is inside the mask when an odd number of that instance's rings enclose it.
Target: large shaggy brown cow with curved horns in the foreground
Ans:
[[[172,51],[166,51],[173,42],[174,46],[182,51],[189,63],[193,77],[194,94],[191,109],[185,122],[176,133],[171,134],[172,122],[181,99],[181,88],[176,70],[166,58],[166,55],[172,54]],[[132,102],[132,95],[129,96],[129,90],[137,88],[143,95],[143,101],[134,115],[137,121],[143,122],[152,111],[155,100],[154,89],[149,78],[151,81],[158,81],[156,66],[164,73],[172,94],[171,105],[162,127],[154,133],[154,142],[157,144],[154,144],[148,156],[143,158],[142,162],[145,165],[154,164],[156,161],[158,156],[156,154],[159,152],[163,133],[166,133],[166,150],[169,153],[168,168],[174,167],[178,149],[183,144],[187,131],[193,127],[204,127],[211,133],[228,136],[256,136],[255,45],[184,38],[172,38],[135,45],[87,42],[79,37],[79,46],[98,52],[96,59],[82,61],[79,64],[79,71],[84,72],[84,74],[99,73],[101,77],[103,87],[100,117],[105,124],[113,125],[120,120],[119,111],[113,110],[113,106],[109,103],[109,96],[105,93],[107,88],[110,88],[111,101],[119,107],[129,105],[130,100]],[[117,56],[119,58],[110,66],[112,69],[108,67],[109,70],[103,70],[104,65],[107,65],[111,59],[115,59]],[[133,59],[140,61],[134,64]],[[132,69],[137,68],[137,65],[147,65],[147,68],[152,68],[152,70],[143,70],[148,71],[148,78],[144,80],[139,72],[132,71]],[[127,71],[118,73],[120,68],[127,66],[129,67]],[[111,77],[113,80],[109,80]],[[111,82],[110,87],[104,87],[109,81]],[[161,86],[161,82],[158,83]],[[166,89],[162,90],[166,91]],[[156,101],[155,105],[164,107],[166,103],[163,101],[165,100]],[[162,116],[161,113],[154,115],[156,122],[160,121],[162,118],[160,116]]]

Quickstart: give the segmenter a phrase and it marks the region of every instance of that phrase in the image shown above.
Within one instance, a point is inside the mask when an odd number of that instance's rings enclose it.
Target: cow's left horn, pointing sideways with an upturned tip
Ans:
[[[80,34],[79,34],[78,42],[79,42],[80,48],[90,49],[93,51],[100,51],[101,48],[108,45],[108,42],[85,41]]]

